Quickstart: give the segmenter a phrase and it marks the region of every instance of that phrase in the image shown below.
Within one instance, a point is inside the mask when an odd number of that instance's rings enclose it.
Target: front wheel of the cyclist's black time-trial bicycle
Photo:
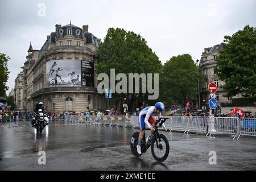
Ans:
[[[152,140],[151,153],[157,162],[163,162],[167,159],[170,151],[168,139],[163,134],[158,134],[156,144],[156,137]]]

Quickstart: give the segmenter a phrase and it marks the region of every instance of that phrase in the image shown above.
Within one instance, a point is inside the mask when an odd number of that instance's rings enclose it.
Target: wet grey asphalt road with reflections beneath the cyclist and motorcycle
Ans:
[[[148,150],[140,158],[130,151],[138,129],[52,122],[42,134],[30,122],[0,123],[0,170],[255,170],[256,138],[207,138],[204,135],[166,135],[170,154],[158,163]],[[149,134],[149,131],[146,131]],[[46,165],[39,165],[39,151]],[[217,164],[210,165],[209,151]]]

